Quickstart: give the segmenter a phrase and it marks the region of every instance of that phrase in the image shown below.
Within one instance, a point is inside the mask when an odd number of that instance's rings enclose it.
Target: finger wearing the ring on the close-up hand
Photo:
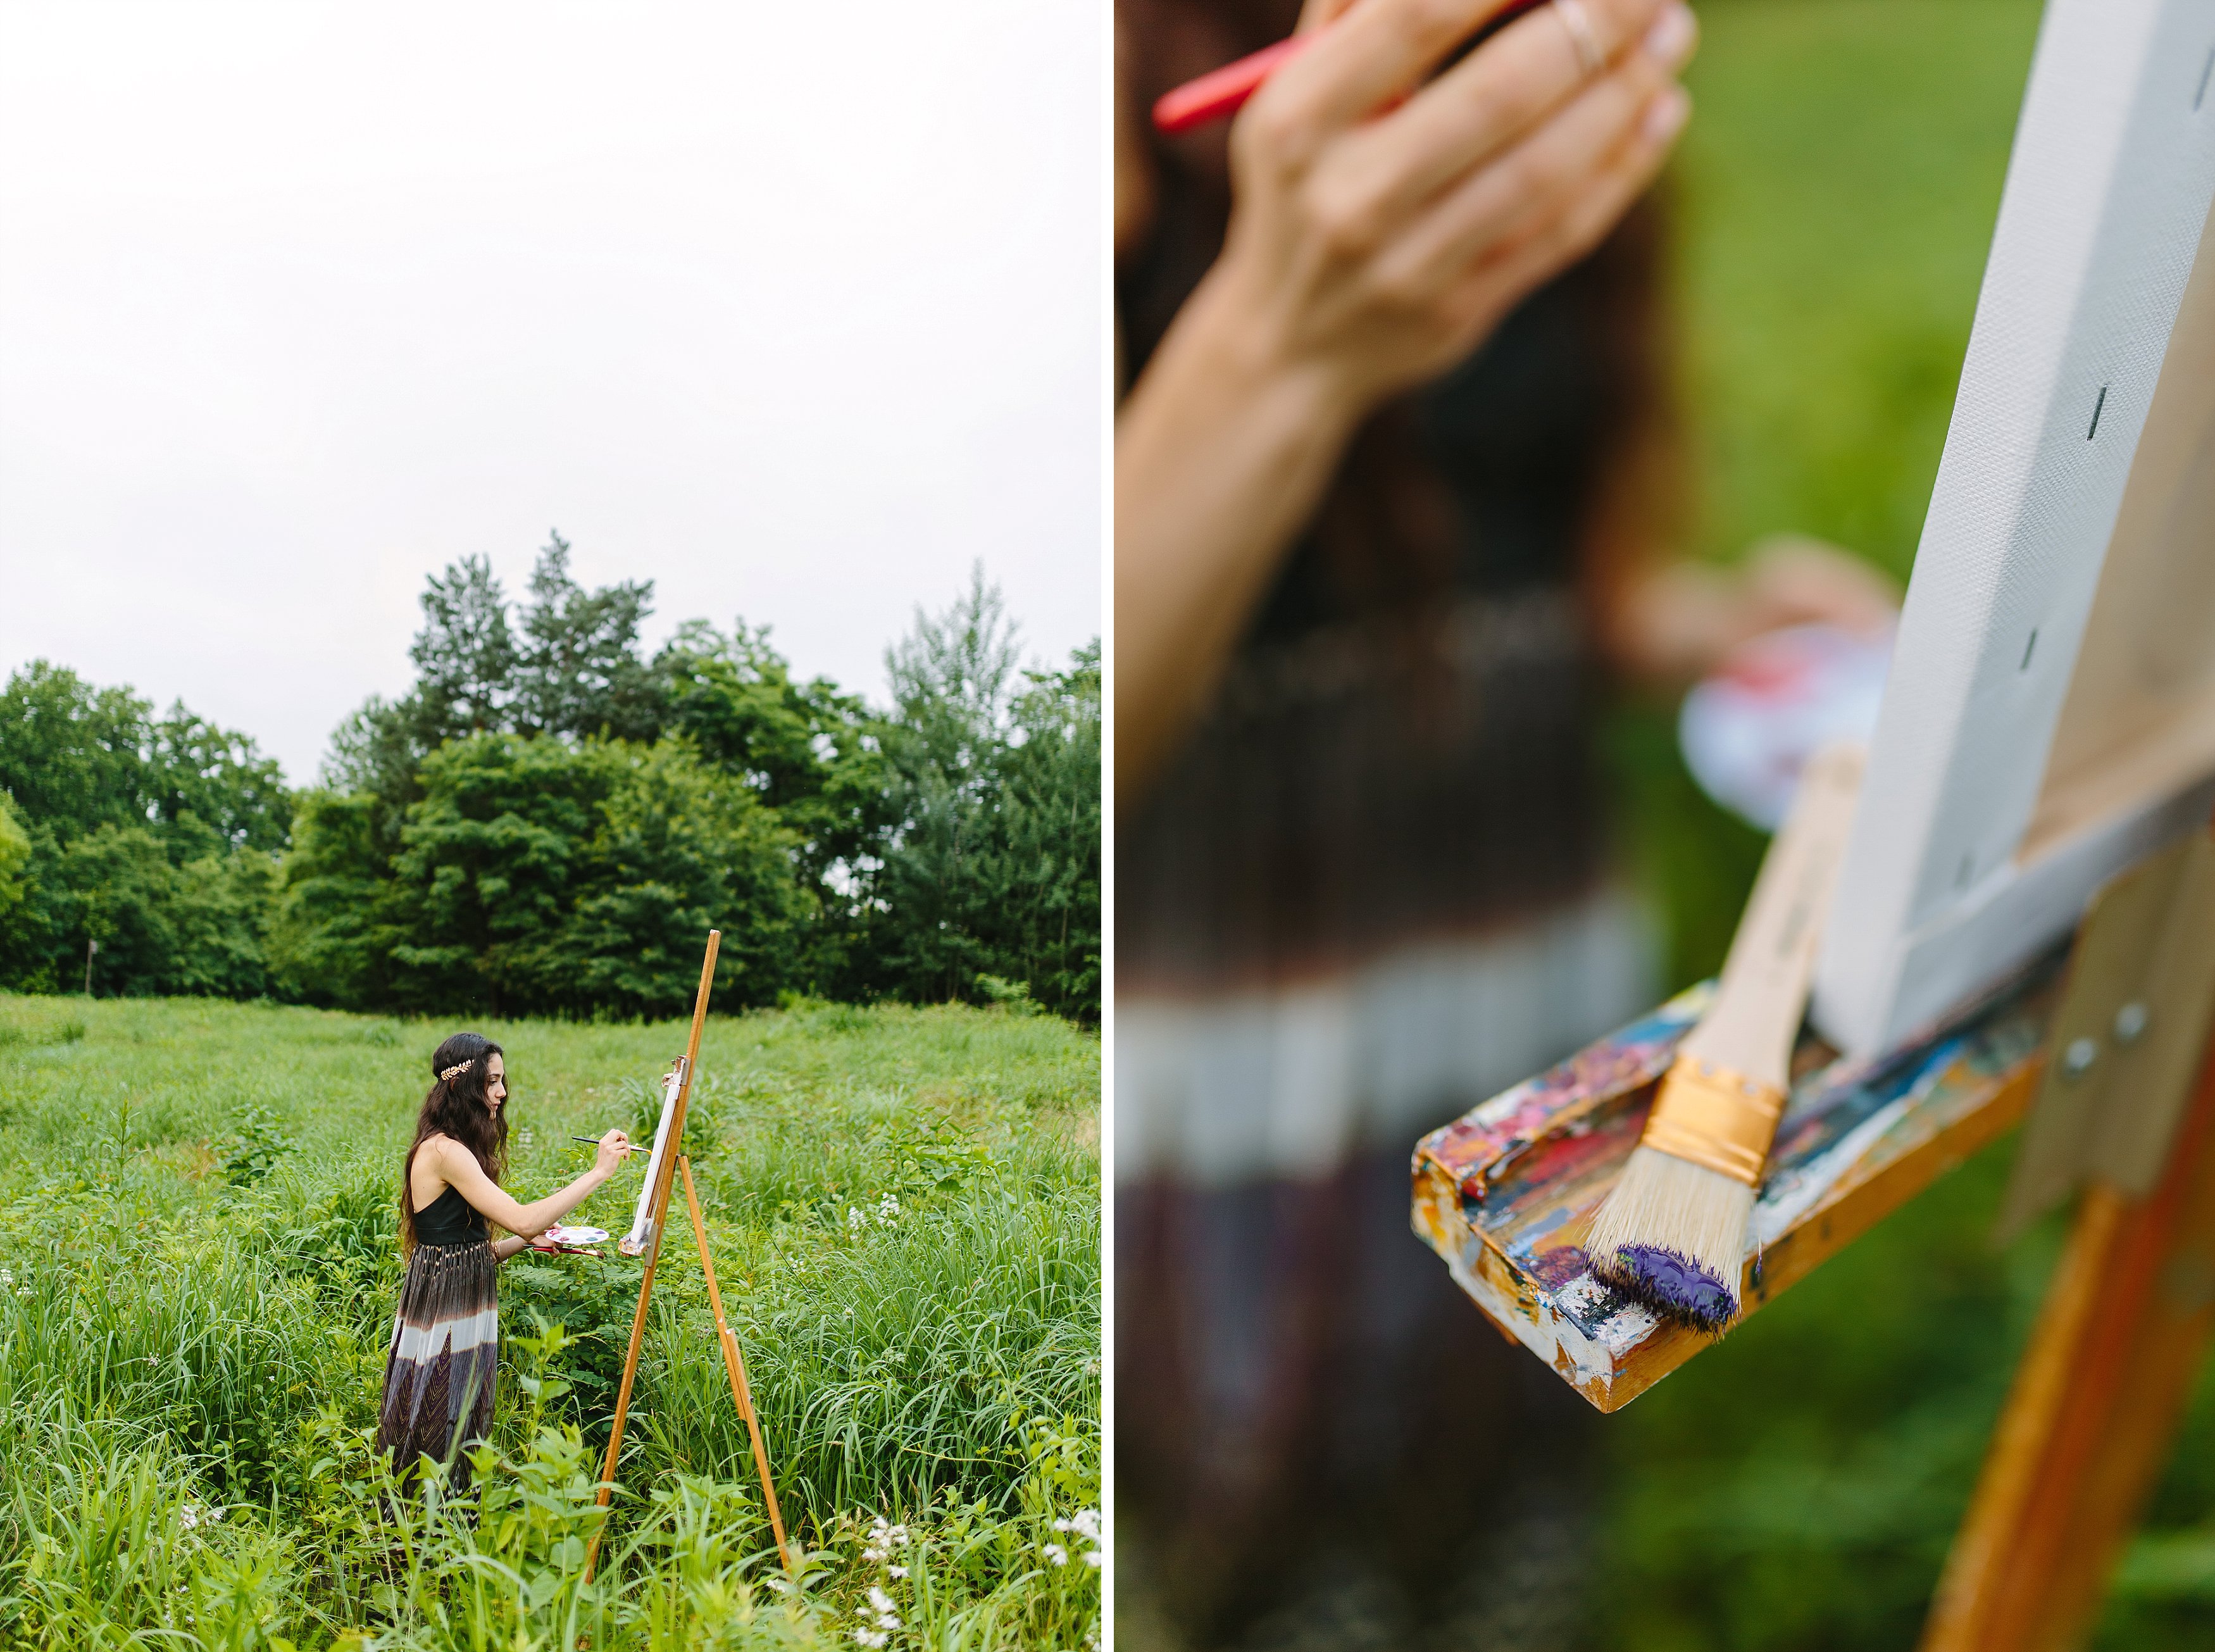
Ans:
[[[1559,7],[1524,13],[1418,91],[1402,109],[1351,133],[1342,171],[1384,217],[1429,202],[1613,73],[1646,53],[1666,73],[1683,66],[1697,24],[1681,0],[1584,0],[1599,66],[1588,66]]]

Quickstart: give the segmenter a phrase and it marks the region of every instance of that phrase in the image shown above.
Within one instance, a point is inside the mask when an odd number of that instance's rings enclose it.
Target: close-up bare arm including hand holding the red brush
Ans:
[[[1302,27],[1329,38],[1232,128],[1223,257],[1116,419],[1125,799],[1205,704],[1360,421],[1597,246],[1683,126],[1679,0],[1539,7],[1429,80],[1500,7],[1313,0]]]

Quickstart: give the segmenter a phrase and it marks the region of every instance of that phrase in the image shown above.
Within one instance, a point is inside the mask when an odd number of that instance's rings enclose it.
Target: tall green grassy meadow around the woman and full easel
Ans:
[[[793,1590],[682,1205],[602,1574],[585,1586],[580,1559],[638,1287],[611,1249],[503,1269],[476,1519],[385,1506],[370,1437],[396,1178],[450,1030],[0,997],[0,1636],[895,1652],[1096,1636],[1096,1039],[961,1008],[711,1019],[687,1143],[808,1552]],[[585,1167],[571,1132],[651,1132],[684,1034],[481,1030],[507,1047],[521,1198]],[[636,1171],[618,1174],[576,1220],[620,1231],[633,1198]]]

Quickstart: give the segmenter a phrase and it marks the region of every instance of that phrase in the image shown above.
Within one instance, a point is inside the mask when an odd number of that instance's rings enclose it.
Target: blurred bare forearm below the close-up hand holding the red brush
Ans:
[[[1116,419],[1116,786],[1154,779],[1329,485],[1353,416],[1216,275]]]

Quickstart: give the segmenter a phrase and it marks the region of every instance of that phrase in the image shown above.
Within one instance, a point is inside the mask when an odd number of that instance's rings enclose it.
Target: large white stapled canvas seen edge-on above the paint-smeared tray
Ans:
[[[2215,0],[2053,0],[1816,1025],[1894,1047],[2215,804]]]

